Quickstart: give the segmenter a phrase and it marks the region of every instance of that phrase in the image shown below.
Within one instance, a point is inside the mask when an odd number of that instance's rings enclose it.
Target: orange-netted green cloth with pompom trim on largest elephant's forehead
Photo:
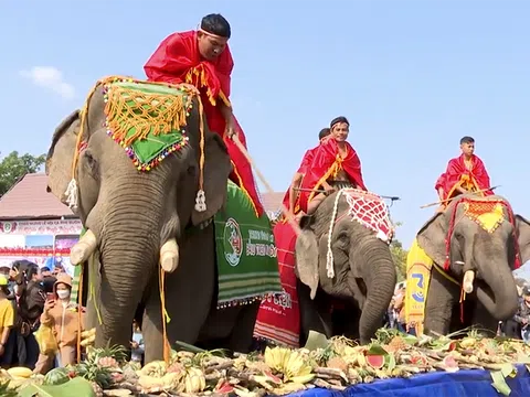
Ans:
[[[192,93],[186,87],[117,79],[104,85],[108,135],[140,171],[149,171],[187,142]]]

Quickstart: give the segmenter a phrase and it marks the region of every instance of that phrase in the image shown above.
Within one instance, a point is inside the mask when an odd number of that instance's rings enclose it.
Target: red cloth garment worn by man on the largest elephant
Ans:
[[[224,136],[225,120],[216,101],[221,99],[226,106],[231,106],[229,97],[233,67],[234,62],[227,46],[214,61],[202,60],[198,49],[197,32],[189,31],[173,33],[166,37],[147,61],[144,69],[151,82],[188,83],[199,88],[210,130]],[[237,137],[246,148],[246,138],[237,120],[235,125]],[[232,139],[224,138],[224,143],[234,167],[231,179],[246,191],[261,216],[263,206],[252,167]]]

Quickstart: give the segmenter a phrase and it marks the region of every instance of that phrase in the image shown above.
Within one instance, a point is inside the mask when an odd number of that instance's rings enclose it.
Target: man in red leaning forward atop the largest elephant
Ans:
[[[200,90],[208,126],[224,138],[229,149],[233,164],[231,179],[248,193],[261,216],[263,206],[251,164],[231,139],[236,135],[246,148],[245,135],[229,100],[234,67],[227,44],[230,36],[229,22],[221,14],[209,14],[202,19],[199,30],[166,37],[144,69],[151,82],[192,84]]]

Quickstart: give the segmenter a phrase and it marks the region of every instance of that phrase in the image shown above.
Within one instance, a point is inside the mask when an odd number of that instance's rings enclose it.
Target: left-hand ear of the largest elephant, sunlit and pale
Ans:
[[[80,126],[80,110],[75,110],[57,126],[47,151],[47,192],[52,192],[63,204],[66,204],[64,193],[72,180],[72,162]]]

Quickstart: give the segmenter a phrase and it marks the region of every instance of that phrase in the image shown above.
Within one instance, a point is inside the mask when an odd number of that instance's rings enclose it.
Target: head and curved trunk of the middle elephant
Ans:
[[[382,325],[394,291],[396,271],[389,245],[356,222],[348,214],[350,206],[346,196],[338,197],[337,194],[327,197],[311,217],[305,217],[300,223],[303,230],[296,242],[296,272],[310,288],[311,299],[320,287],[332,297],[356,302],[362,310],[360,339],[367,343]],[[331,248],[332,260],[328,260],[328,248]],[[329,277],[331,273],[333,276]]]

